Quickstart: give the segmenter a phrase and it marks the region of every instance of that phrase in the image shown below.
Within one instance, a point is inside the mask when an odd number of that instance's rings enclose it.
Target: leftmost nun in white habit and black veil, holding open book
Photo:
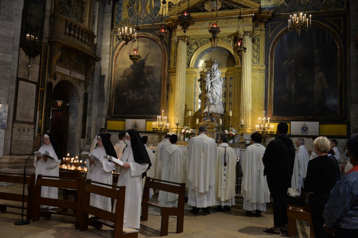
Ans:
[[[41,154],[48,154],[53,159],[35,156],[34,167],[36,168],[36,179],[39,174],[58,177],[62,151],[52,133],[48,132],[44,134],[43,145],[40,147],[38,152]],[[57,199],[57,196],[58,188],[45,186],[41,187],[41,197]],[[51,209],[55,207],[41,205],[41,208]]]

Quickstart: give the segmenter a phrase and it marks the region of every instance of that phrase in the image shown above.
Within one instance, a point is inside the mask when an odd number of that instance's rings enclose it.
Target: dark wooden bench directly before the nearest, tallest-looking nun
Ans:
[[[102,187],[102,186],[107,187]],[[108,188],[111,187],[111,188]],[[118,189],[118,190],[117,190]],[[79,230],[87,230],[88,225],[92,227],[101,228],[102,224],[114,228],[115,238],[137,238],[138,230],[131,228],[123,228],[124,216],[124,200],[125,200],[126,187],[117,187],[105,183],[99,183],[86,180],[84,187],[84,195],[82,202],[81,224]],[[92,205],[89,205],[91,193],[98,194],[111,199],[117,199],[114,212],[103,210]],[[88,215],[94,215],[95,219],[89,219]],[[113,224],[114,223],[114,224]]]

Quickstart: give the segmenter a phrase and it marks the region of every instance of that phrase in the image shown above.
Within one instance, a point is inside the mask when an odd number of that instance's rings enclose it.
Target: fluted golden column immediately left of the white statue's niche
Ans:
[[[174,91],[174,120],[179,119],[179,127],[184,125],[184,109],[185,109],[185,71],[186,71],[186,54],[188,37],[172,36],[174,43],[178,44],[176,54],[176,77]]]

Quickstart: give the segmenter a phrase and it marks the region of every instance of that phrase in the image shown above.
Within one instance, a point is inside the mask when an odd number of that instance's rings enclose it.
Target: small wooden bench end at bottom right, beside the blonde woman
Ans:
[[[311,213],[309,212],[308,207],[300,207],[300,206],[287,204],[287,217],[289,223],[287,228],[287,233],[291,237],[296,237],[296,232],[297,232],[296,219],[310,222],[310,238],[315,237],[313,233]]]

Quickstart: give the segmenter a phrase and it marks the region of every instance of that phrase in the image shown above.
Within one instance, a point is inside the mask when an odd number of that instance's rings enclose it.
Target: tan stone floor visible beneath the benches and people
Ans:
[[[21,193],[22,185],[0,187],[0,192],[12,191]],[[12,203],[0,199],[0,204]],[[247,217],[242,210],[242,204],[238,203],[229,212],[216,212],[211,208],[211,214],[204,216],[193,215],[186,212],[184,217],[184,232],[176,234],[176,219],[169,218],[168,237],[188,238],[226,238],[226,237],[279,237],[287,236],[268,234],[262,231],[273,224],[272,204],[267,204],[267,212],[261,217]],[[155,214],[155,213],[153,213]],[[40,218],[38,222],[28,225],[14,225],[14,221],[20,220],[21,210],[8,208],[6,212],[0,212],[0,237],[4,238],[38,238],[38,237],[113,237],[113,229],[103,226],[102,229],[89,227],[87,231],[80,232],[74,229],[74,218],[61,215],[52,215],[51,219]],[[298,233],[296,237],[303,238],[309,235],[309,223],[297,221]],[[148,221],[141,222],[139,238],[160,237],[160,216],[149,215]]]

